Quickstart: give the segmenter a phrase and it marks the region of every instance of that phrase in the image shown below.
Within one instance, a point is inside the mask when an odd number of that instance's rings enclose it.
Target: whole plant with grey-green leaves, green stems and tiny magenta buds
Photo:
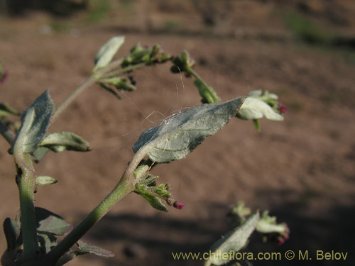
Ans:
[[[231,119],[253,121],[257,130],[260,130],[258,120],[261,118],[283,121],[285,106],[271,92],[255,90],[248,96],[221,102],[217,92],[197,74],[195,61],[185,50],[180,55],[170,55],[158,44],[147,48],[138,43],[129,55],[115,59],[124,40],[124,36],[114,36],[102,45],[94,57],[90,77],[57,108],[48,90],[22,113],[0,103],[0,133],[10,145],[8,152],[15,163],[16,172],[13,174],[16,176],[20,199],[16,217],[6,218],[3,223],[7,248],[1,257],[2,265],[60,266],[88,253],[102,257],[114,256],[110,251],[81,239],[124,196],[138,194],[159,211],[168,211],[170,207],[182,209],[184,206],[181,201],[174,199],[170,184],[158,184],[158,176],[151,173],[152,167],[184,159],[204,138],[217,133]],[[134,70],[168,63],[172,73],[180,74],[181,81],[182,74],[193,79],[202,104],[182,107],[178,96],[179,109],[161,113],[163,119],[141,133],[133,145],[134,155],[116,187],[76,226],[70,225],[58,214],[37,206],[40,202],[35,202],[36,187],[53,185],[57,180],[36,174],[35,163],[41,163],[41,159],[50,152],[91,150],[89,142],[75,133],[48,133],[48,128],[60,119],[67,106],[94,84],[117,99],[121,99],[123,94],[124,98],[131,100],[128,93],[136,90]],[[8,74],[6,65],[0,60],[1,83],[6,81]],[[183,82],[182,89],[185,90]],[[138,106],[136,108],[140,110]],[[153,113],[144,119],[149,120]],[[16,122],[13,122],[14,117],[18,118]],[[235,223],[234,230],[212,244],[209,251],[215,255],[205,260],[204,265],[248,263],[236,262],[233,257],[226,258],[218,254],[245,248],[253,232],[260,233],[264,240],[276,240],[278,243],[288,239],[288,226],[277,223],[268,211],[259,214],[259,211],[251,211],[243,202],[238,202],[229,216]]]

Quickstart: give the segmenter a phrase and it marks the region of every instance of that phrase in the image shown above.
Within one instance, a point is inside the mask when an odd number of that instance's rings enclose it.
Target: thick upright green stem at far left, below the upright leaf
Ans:
[[[21,153],[15,145],[13,157],[16,162],[16,182],[20,194],[21,232],[23,238],[23,261],[34,260],[38,256],[37,223],[35,221],[35,171],[31,155]]]

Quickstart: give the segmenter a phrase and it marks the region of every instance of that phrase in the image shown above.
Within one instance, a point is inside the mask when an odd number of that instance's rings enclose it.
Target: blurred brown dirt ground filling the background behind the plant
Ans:
[[[253,235],[248,250],[310,250],[314,257],[253,265],[354,265],[354,1],[74,1],[75,9],[53,1],[59,7],[49,11],[33,2],[7,16],[0,1],[0,56],[10,72],[1,102],[18,110],[46,88],[60,104],[89,76],[100,45],[121,34],[119,56],[137,42],[160,43],[172,54],[187,49],[223,100],[267,89],[288,106],[282,123],[261,121],[258,133],[234,119],[187,159],[155,167],[184,209],[161,213],[131,194],[85,237],[116,256],[86,255],[68,265],[202,265],[171,253],[208,250],[231,230],[226,213],[239,200],[270,210],[291,231],[280,247]],[[136,92],[119,101],[92,87],[50,128],[81,135],[92,151],[48,154],[35,165],[59,180],[38,189],[37,206],[77,224],[118,182],[143,129],[200,103],[192,80],[170,74],[168,65],[133,74]],[[151,113],[154,123],[146,119]],[[15,216],[18,194],[9,145],[0,145],[3,221]],[[349,255],[315,260],[315,250]]]

